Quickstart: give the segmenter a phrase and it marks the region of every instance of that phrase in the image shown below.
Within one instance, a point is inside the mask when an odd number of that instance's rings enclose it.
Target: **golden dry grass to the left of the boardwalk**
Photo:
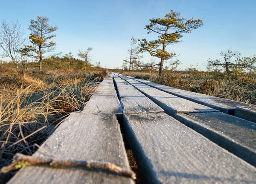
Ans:
[[[79,111],[99,84],[98,74],[78,71],[0,69],[0,167],[15,153],[32,155],[73,111]],[[0,181],[1,183],[1,181]]]

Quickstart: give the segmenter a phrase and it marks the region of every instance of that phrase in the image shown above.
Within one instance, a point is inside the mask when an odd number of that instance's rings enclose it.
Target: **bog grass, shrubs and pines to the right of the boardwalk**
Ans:
[[[128,57],[123,60],[122,74],[256,105],[255,55],[241,57],[241,53],[228,48],[220,51],[218,59],[207,60],[207,72],[198,71],[198,64],[191,64],[180,71],[182,63],[175,59],[176,53],[170,52],[169,46],[180,42],[183,34],[203,26],[203,21],[193,17],[187,20],[180,17],[180,12],[173,10],[163,18],[152,18],[149,21],[150,24],[145,29],[148,34],[157,34],[157,40],[136,40],[132,37]],[[151,60],[144,63],[141,52],[148,52],[152,56]],[[165,61],[169,65],[163,67]]]

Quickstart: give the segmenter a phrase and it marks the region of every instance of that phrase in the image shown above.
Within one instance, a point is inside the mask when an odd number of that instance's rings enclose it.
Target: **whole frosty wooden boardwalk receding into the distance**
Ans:
[[[255,184],[256,106],[112,73],[33,156],[130,170],[131,151],[145,184]],[[100,170],[29,166],[9,181],[17,183],[136,181]]]

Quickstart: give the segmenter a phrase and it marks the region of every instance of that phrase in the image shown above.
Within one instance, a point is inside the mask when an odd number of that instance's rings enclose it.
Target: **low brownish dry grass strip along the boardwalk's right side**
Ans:
[[[256,105],[256,76],[226,76],[207,72],[122,73],[174,88]]]

